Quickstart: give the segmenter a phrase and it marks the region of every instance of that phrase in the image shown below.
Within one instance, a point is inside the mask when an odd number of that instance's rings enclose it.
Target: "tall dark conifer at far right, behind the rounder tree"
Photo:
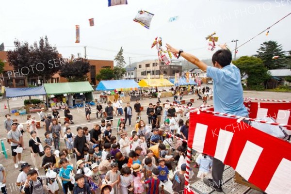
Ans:
[[[261,47],[257,51],[255,56],[263,61],[263,64],[268,69],[280,69],[288,65],[288,61],[285,56],[285,51],[282,50],[282,46],[276,41],[268,41],[261,44]],[[278,59],[273,59],[274,56],[279,56]]]

